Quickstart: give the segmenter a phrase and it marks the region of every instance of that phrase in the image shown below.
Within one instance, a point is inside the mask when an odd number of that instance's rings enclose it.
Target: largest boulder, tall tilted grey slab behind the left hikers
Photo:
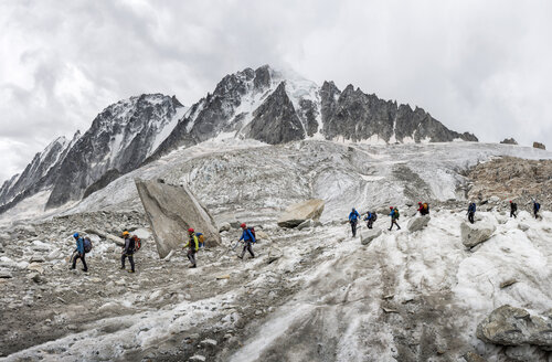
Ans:
[[[221,243],[213,216],[185,185],[138,179],[135,183],[159,257],[164,258],[172,249],[181,247],[190,227],[203,233],[206,246]]]

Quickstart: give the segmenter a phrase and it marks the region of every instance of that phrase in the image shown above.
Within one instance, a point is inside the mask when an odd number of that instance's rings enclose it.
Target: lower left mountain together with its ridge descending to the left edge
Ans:
[[[104,109],[72,141],[61,137],[36,153],[25,170],[0,189],[0,212],[42,190],[46,206],[81,199],[88,187],[106,184],[139,167],[167,138],[188,108],[176,97],[141,95]]]

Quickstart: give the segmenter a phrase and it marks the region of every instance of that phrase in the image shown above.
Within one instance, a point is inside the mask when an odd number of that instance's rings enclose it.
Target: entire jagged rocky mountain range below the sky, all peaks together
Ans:
[[[270,145],[300,139],[350,142],[477,141],[449,130],[422,108],[383,100],[352,85],[342,92],[268,65],[226,75],[190,108],[161,94],[120,100],[84,135],[60,138],[0,189],[0,213],[47,190],[46,209],[81,200],[121,174],[176,150],[217,137]]]

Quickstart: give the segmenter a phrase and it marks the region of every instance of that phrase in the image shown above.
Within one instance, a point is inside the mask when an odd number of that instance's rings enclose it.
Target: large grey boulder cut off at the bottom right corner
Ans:
[[[550,320],[550,316],[548,316]],[[500,345],[531,344],[552,350],[552,328],[546,319],[527,310],[505,305],[495,309],[477,326],[477,338]]]

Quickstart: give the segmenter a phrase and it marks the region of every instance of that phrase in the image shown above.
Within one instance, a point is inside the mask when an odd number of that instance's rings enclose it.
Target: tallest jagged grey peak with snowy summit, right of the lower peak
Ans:
[[[265,65],[225,76],[213,94],[191,107],[155,158],[222,132],[272,145],[305,138],[384,143],[477,141],[471,134],[449,130],[422,108],[383,100],[352,85],[343,92],[332,82],[319,87]]]

